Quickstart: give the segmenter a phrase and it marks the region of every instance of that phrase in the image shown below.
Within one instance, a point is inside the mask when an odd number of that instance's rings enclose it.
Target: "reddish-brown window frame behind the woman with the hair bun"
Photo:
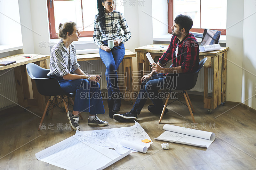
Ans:
[[[50,30],[50,39],[58,39],[58,35],[56,33],[55,29],[55,17],[54,17],[54,0],[51,1],[47,0],[47,7],[48,7],[48,20],[49,20],[49,30]],[[81,1],[81,10],[82,10],[82,20],[83,20],[83,28],[84,28],[84,16],[83,16],[83,4],[82,0],[55,0],[55,1]],[[52,4],[52,8],[51,8]],[[92,37],[93,36],[93,31],[81,31],[80,32],[80,37]]]

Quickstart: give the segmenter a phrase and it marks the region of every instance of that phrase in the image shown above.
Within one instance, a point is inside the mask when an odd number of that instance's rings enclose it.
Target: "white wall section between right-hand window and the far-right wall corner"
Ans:
[[[243,0],[227,1],[227,101],[241,102],[243,63]]]

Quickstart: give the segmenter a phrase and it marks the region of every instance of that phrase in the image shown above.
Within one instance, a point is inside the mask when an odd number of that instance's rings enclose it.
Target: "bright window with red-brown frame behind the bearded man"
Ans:
[[[227,0],[169,0],[169,33],[172,33],[174,18],[179,14],[189,15],[193,19],[191,32],[203,33],[204,29],[212,29],[226,35]]]

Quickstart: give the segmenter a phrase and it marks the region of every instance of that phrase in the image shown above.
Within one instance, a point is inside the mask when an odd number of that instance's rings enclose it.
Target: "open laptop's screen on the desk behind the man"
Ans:
[[[201,46],[219,44],[221,31],[204,29]]]

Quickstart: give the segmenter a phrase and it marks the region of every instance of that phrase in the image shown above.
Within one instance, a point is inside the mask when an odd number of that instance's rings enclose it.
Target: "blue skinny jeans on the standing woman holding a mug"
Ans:
[[[104,46],[108,46],[108,41],[102,41]],[[107,67],[106,80],[108,83],[108,98],[113,98],[113,94],[119,94],[117,68],[124,58],[124,43],[120,43],[119,46],[111,49],[111,52],[106,52],[100,49],[100,58]],[[115,94],[115,95],[116,95]]]

